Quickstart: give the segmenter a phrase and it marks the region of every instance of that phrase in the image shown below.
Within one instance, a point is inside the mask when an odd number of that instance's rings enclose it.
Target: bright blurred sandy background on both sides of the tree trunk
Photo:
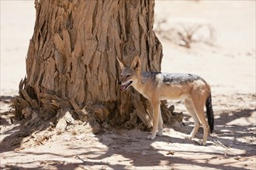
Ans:
[[[18,94],[33,36],[33,1],[1,2],[1,96]],[[162,72],[196,73],[213,93],[255,93],[255,1],[155,0]]]

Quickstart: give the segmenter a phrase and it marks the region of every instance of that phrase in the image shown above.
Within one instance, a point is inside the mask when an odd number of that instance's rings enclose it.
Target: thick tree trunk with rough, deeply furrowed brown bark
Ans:
[[[27,77],[13,100],[16,117],[150,128],[150,105],[133,88],[121,92],[116,56],[160,71],[162,46],[153,31],[154,0],[35,1],[36,23],[26,58]],[[166,121],[171,112],[164,110]],[[67,119],[66,119],[67,121]]]

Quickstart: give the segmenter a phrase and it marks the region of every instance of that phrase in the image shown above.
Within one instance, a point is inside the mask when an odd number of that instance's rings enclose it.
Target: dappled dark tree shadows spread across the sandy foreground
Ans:
[[[219,117],[215,119],[215,131],[212,136],[209,137],[209,142],[206,147],[210,147],[215,145],[215,141],[220,141],[221,147],[223,148],[234,148],[245,150],[242,156],[254,156],[256,153],[256,148],[254,144],[250,144],[247,141],[240,141],[238,138],[244,138],[248,136],[256,137],[255,134],[255,124],[251,124],[248,120],[247,125],[239,125],[239,124],[230,124],[240,117],[249,118],[255,113],[256,109],[244,109],[244,110],[234,110],[232,112],[223,112],[218,114]],[[186,121],[189,121],[189,117],[185,117]],[[1,141],[0,149],[1,152],[14,151],[16,148],[20,148],[22,139],[24,136],[19,130],[20,122],[16,122],[16,126],[9,131],[5,131],[6,138]],[[185,126],[185,129],[192,131],[193,122],[188,122],[188,126]],[[227,125],[229,124],[229,125]],[[46,125],[41,130],[48,128],[49,125]],[[173,128],[174,131],[178,131],[184,133],[181,128]],[[245,131],[244,131],[245,130]],[[123,131],[123,130],[121,130]],[[28,135],[30,135],[33,131],[30,131]],[[39,164],[36,169],[40,168],[56,168],[56,169],[74,169],[74,168],[113,168],[113,169],[130,169],[130,168],[148,168],[150,166],[159,166],[162,165],[161,168],[168,168],[174,165],[182,164],[182,165],[192,165],[192,167],[201,167],[201,168],[220,168],[220,169],[247,169],[247,168],[237,168],[236,166],[232,166],[227,163],[219,163],[213,164],[209,162],[212,160],[211,158],[223,157],[223,153],[218,151],[213,151],[212,153],[207,153],[207,158],[203,158],[199,160],[196,158],[196,155],[205,155],[206,152],[203,149],[199,151],[189,151],[188,148],[175,148],[171,147],[171,145],[176,144],[185,144],[196,146],[198,145],[195,141],[190,141],[183,138],[175,138],[174,136],[163,135],[162,137],[157,137],[154,141],[150,141],[146,139],[147,132],[145,131],[137,131],[136,136],[131,138],[130,135],[134,135],[134,133],[130,133],[129,131],[125,131],[124,134],[111,134],[108,131],[103,132],[101,134],[95,135],[95,138],[102,143],[102,145],[106,146],[106,151],[102,153],[98,149],[95,151],[90,151],[86,147],[81,147],[81,145],[77,145],[74,147],[68,148],[70,151],[76,150],[79,154],[56,154],[53,152],[41,151],[33,152],[33,151],[21,151],[22,155],[51,155],[58,158],[72,158],[71,160],[75,160],[74,162],[65,162],[59,161],[59,159],[51,159],[46,161],[36,160],[33,162],[18,162],[16,165],[1,165],[1,168],[16,168],[22,169],[26,167],[28,164]],[[108,140],[106,140],[106,135],[110,135]],[[197,137],[202,138],[202,129],[199,131]],[[225,138],[230,137],[230,138]],[[160,147],[156,148],[155,144],[158,142],[159,144],[164,143],[165,145],[170,145],[171,151],[175,154],[168,154],[170,150],[163,150]],[[138,148],[138,145],[140,148]],[[88,146],[90,147],[90,146]],[[205,146],[199,146],[204,148]],[[246,148],[251,148],[246,150]],[[177,153],[177,154],[176,154]],[[179,153],[185,153],[185,155],[190,155],[189,157],[179,156]],[[91,156],[88,156],[91,155]],[[116,155],[121,155],[123,158],[123,162],[117,162],[116,164],[112,164],[111,158],[116,158]],[[227,154],[225,155],[227,158],[232,158],[234,155]],[[200,157],[202,158],[202,157]],[[107,160],[107,161],[106,161]],[[26,168],[26,169],[35,169],[35,168]]]

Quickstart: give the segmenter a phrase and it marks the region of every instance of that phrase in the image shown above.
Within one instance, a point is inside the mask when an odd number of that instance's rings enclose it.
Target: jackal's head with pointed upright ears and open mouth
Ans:
[[[116,56],[122,70],[119,79],[121,90],[126,90],[130,85],[137,83],[140,77],[141,64],[139,56],[135,56],[130,66],[126,66],[121,59]]]

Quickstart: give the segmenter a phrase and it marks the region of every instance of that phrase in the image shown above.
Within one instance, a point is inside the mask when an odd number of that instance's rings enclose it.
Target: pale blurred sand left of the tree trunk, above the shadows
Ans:
[[[18,94],[26,75],[26,53],[33,36],[36,9],[33,1],[0,1],[1,96]]]

